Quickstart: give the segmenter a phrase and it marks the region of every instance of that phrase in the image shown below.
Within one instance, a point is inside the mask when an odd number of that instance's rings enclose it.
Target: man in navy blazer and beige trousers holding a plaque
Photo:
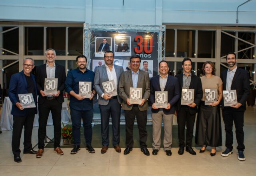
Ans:
[[[164,151],[167,156],[171,156],[172,146],[172,122],[175,113],[175,104],[180,98],[178,78],[168,75],[168,62],[162,60],[158,65],[160,75],[154,76],[150,80],[150,102],[152,103],[152,122],[153,122],[153,155],[157,155],[161,145],[161,126],[164,120]],[[156,108],[155,91],[167,91],[168,105],[166,108]]]

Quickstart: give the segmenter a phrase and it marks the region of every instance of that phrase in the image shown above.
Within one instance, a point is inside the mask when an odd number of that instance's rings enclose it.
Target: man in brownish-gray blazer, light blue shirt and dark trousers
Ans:
[[[140,56],[135,55],[130,58],[132,68],[131,70],[121,74],[118,86],[119,95],[123,100],[122,108],[124,109],[126,124],[126,149],[124,150],[124,154],[129,154],[133,148],[133,126],[136,116],[140,133],[140,149],[145,155],[149,156],[149,151],[146,145],[146,140],[148,137],[146,130],[148,109],[147,100],[150,96],[149,74],[148,72],[140,70],[140,62]],[[142,88],[141,104],[130,103],[130,87]]]

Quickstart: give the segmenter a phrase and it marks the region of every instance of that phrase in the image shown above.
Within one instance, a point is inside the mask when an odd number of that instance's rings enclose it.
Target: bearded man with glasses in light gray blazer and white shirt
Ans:
[[[94,89],[99,95],[98,103],[100,105],[100,115],[101,115],[101,136],[102,136],[102,149],[101,153],[104,154],[108,150],[109,145],[109,134],[108,134],[108,123],[111,114],[112,118],[112,130],[113,138],[112,144],[116,152],[121,152],[119,146],[120,141],[120,111],[122,100],[117,96],[110,96],[104,94],[104,88],[102,82],[114,80],[116,88],[118,88],[119,78],[122,72],[124,72],[121,66],[113,64],[114,53],[112,51],[106,51],[104,54],[105,64],[96,67],[94,76]],[[118,93],[118,91],[117,91]]]

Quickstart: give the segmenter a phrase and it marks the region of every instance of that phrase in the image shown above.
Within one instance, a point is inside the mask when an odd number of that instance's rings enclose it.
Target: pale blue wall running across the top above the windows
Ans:
[[[98,24],[236,25],[246,0],[0,0],[0,20]],[[239,8],[238,25],[256,24],[256,1]]]

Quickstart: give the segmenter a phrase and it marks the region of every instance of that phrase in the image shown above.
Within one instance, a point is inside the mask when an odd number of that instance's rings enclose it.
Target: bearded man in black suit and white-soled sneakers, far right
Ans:
[[[237,103],[230,107],[224,107],[222,100],[222,116],[226,131],[226,150],[221,156],[229,156],[233,150],[233,121],[236,127],[236,140],[238,143],[238,160],[244,161],[244,111],[246,110],[246,100],[250,93],[250,79],[246,70],[236,66],[236,54],[230,52],[226,56],[228,69],[222,72],[220,78],[223,82],[223,90],[236,90]]]

